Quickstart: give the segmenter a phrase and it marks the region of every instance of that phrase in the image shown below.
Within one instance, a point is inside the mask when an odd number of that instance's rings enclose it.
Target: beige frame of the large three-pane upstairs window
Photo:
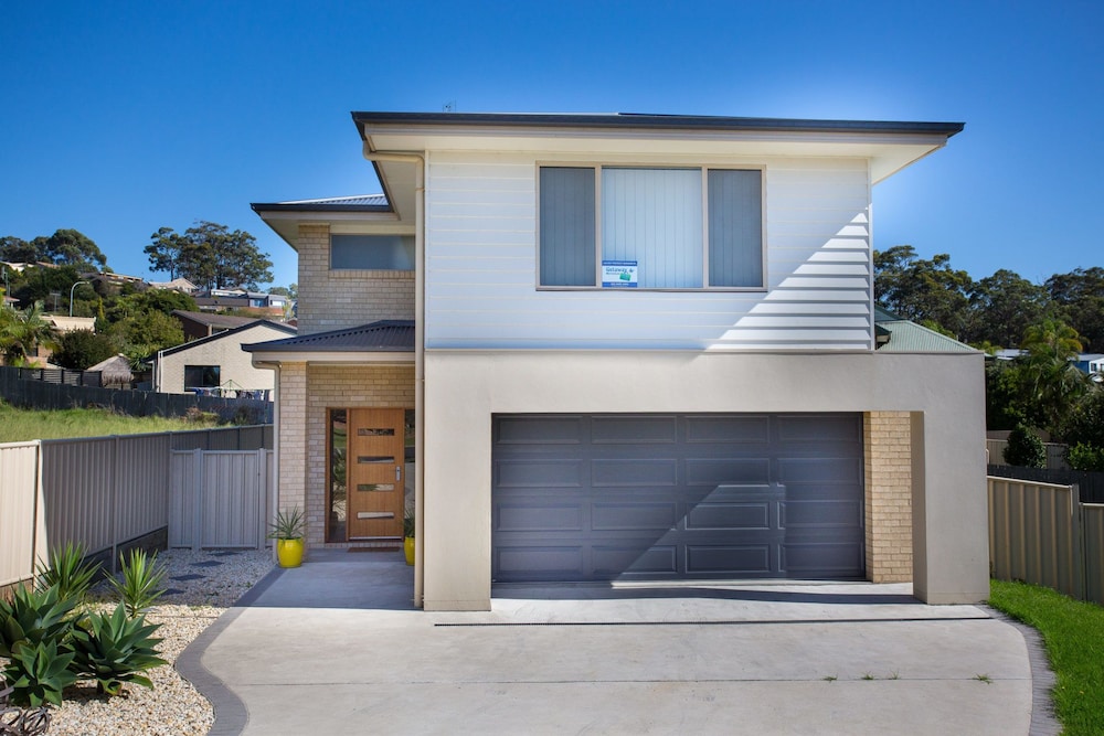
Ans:
[[[583,286],[559,286],[541,282],[541,170],[544,168],[592,169],[594,171],[594,284]],[[603,169],[697,169],[701,174],[701,218],[702,218],[702,286],[697,287],[636,287],[631,289],[613,289],[602,286],[602,170]],[[711,286],[709,284],[709,172],[710,171],[757,171],[760,173],[760,258],[763,275],[760,286]],[[635,161],[538,161],[535,164],[535,207],[537,227],[534,228],[537,249],[537,282],[538,291],[734,291],[762,294],[768,290],[767,284],[767,218],[766,218],[766,166],[747,163],[640,163]]]

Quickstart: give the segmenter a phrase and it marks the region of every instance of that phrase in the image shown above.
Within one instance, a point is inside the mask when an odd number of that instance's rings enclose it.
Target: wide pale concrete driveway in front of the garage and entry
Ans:
[[[496,588],[412,609],[391,553],[311,553],[181,657],[212,734],[1027,734],[1013,626],[909,585]]]

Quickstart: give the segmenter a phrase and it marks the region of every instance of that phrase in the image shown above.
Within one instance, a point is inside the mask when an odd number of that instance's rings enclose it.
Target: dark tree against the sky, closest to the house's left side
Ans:
[[[199,221],[181,235],[161,227],[150,236],[145,253],[150,270],[168,271],[204,288],[256,289],[272,281],[273,263],[245,231]]]

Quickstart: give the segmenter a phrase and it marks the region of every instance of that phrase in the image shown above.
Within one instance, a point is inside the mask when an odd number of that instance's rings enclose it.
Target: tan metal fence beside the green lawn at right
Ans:
[[[1000,580],[1042,585],[1104,605],[1104,504],[1073,486],[988,479],[989,564]]]

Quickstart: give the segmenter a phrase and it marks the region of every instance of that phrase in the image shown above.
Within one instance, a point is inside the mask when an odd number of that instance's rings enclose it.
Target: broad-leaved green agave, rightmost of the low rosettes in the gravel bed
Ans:
[[[128,617],[121,602],[110,616],[93,614],[78,621],[73,631],[70,670],[95,680],[96,690],[108,696],[121,693],[128,682],[152,687],[149,678],[140,673],[168,664],[155,649],[161,640],[150,637],[158,627],[159,623],[147,623],[140,614]]]

